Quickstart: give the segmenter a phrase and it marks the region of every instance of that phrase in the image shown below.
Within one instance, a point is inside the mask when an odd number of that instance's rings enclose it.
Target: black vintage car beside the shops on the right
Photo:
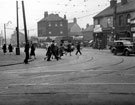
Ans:
[[[111,52],[114,55],[121,53],[123,55],[129,56],[130,54],[135,54],[135,46],[130,41],[117,40],[114,41],[113,46],[111,48]]]

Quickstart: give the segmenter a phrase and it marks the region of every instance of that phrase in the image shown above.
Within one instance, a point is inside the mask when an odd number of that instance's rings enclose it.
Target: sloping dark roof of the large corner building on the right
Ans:
[[[135,0],[127,0],[128,3],[121,5],[121,3],[117,3],[117,13],[126,12],[126,11],[135,11]],[[102,17],[102,16],[108,16],[113,14],[113,8],[110,6],[105,8],[103,11],[101,11],[99,14],[94,16],[94,18]]]

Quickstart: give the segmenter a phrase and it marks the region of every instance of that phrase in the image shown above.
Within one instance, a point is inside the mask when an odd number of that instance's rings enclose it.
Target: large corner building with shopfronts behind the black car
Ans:
[[[135,0],[110,1],[110,6],[93,17],[95,47],[102,42],[106,48],[114,40],[128,39],[133,41],[131,20],[135,17]]]

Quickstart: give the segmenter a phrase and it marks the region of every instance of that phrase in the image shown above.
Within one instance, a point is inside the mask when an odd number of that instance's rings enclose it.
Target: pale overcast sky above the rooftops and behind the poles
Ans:
[[[81,28],[93,24],[93,16],[110,5],[110,0],[24,0],[27,30],[30,36],[37,36],[37,22],[48,14],[66,15],[68,22],[77,18]],[[19,29],[23,32],[22,0],[18,0]],[[0,30],[4,34],[6,24],[7,37],[10,38],[16,25],[16,0],[0,0]],[[4,35],[3,35],[4,36]]]

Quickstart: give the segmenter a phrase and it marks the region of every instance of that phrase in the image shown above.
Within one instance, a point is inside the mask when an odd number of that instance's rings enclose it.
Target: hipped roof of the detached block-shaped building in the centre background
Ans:
[[[50,14],[46,18],[41,19],[40,21],[59,21],[62,20],[58,14]]]

